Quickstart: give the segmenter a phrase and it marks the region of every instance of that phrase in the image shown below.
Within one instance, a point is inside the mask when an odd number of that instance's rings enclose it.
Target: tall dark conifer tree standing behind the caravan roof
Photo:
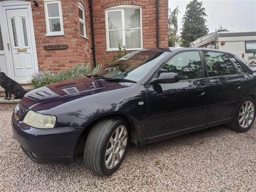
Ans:
[[[208,34],[206,26],[205,8],[202,2],[193,0],[186,6],[186,12],[182,18],[181,46],[188,47],[190,42]]]

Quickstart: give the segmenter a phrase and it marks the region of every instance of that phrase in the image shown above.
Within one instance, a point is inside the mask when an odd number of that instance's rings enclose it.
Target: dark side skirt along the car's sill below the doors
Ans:
[[[150,143],[170,139],[170,138],[173,138],[173,137],[176,137],[176,136],[180,136],[180,135],[196,132],[196,131],[199,131],[199,130],[207,129],[207,128],[210,128],[210,127],[222,125],[222,124],[225,124],[225,123],[229,122],[231,119],[232,118],[227,118],[227,119],[224,119],[224,120],[210,122],[208,124],[203,124],[203,125],[194,126],[194,127],[190,127],[190,128],[186,128],[186,129],[182,129],[182,130],[178,130],[178,131],[158,135],[158,136],[153,136],[153,137],[150,137],[150,138],[145,138],[145,139],[140,140],[140,143],[139,143],[138,146],[142,146],[142,145],[146,145],[146,144],[150,144]]]

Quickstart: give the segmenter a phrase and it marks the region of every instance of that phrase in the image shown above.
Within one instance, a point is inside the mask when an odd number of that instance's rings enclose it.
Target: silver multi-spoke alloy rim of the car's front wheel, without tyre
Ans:
[[[121,125],[116,128],[106,148],[105,165],[106,168],[114,168],[124,155],[127,145],[127,130],[126,126]]]

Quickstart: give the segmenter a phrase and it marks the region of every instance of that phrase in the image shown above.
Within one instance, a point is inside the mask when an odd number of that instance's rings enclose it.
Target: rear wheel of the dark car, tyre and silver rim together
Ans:
[[[248,131],[255,120],[255,100],[251,97],[244,98],[238,105],[234,117],[228,127],[238,132]]]

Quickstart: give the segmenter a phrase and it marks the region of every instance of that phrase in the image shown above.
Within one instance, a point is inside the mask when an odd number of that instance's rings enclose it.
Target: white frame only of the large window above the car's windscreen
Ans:
[[[132,51],[132,50],[142,50],[143,49],[143,42],[142,42],[142,39],[143,39],[143,37],[142,37],[142,7],[141,6],[134,6],[134,5],[120,5],[120,6],[114,6],[114,7],[105,9],[107,51],[118,51],[118,48],[110,48],[109,31],[115,31],[115,30],[109,30],[108,29],[108,13],[109,12],[121,11],[121,15],[122,15],[122,44],[124,46],[125,45],[124,10],[129,10],[129,9],[140,9],[140,28],[129,28],[129,30],[140,29],[141,48],[126,48],[126,50]],[[120,29],[118,29],[118,30],[120,30]]]

